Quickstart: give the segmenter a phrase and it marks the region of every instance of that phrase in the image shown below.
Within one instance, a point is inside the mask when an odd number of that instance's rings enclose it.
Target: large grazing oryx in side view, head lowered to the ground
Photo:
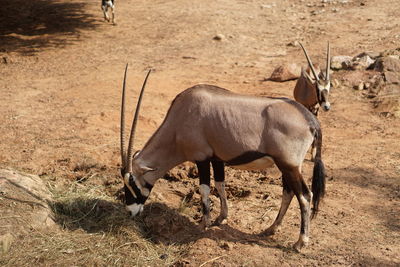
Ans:
[[[219,224],[228,215],[224,164],[252,170],[276,164],[282,172],[282,203],[274,223],[262,235],[272,235],[278,230],[293,196],[296,196],[301,209],[301,227],[294,247],[299,250],[307,244],[310,219],[317,213],[325,192],[322,133],[315,116],[287,98],[239,95],[212,85],[196,85],[176,96],[158,130],[141,151],[133,153],[135,128],[149,71],[140,92],[125,152],[126,71],[121,107],[121,175],[126,208],[132,216],[143,210],[160,177],[174,166],[192,161],[199,168],[203,206],[200,225],[209,226],[211,162],[221,200],[221,213],[215,222]],[[301,166],[314,140],[317,154],[310,190],[301,175]]]

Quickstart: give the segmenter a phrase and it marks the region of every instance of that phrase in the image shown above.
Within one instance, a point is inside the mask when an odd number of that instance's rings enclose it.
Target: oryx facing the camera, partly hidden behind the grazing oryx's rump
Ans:
[[[324,111],[328,111],[331,107],[328,96],[331,82],[329,79],[330,70],[330,47],[328,42],[328,49],[326,55],[326,72],[321,72],[319,68],[316,68],[312,64],[310,57],[307,54],[306,49],[300,43],[301,48],[306,55],[308,61],[308,69],[302,69],[300,78],[297,80],[296,87],[294,88],[294,99],[297,102],[303,104],[308,110],[310,110],[315,116],[318,115],[318,104],[323,108]],[[311,73],[313,77],[311,77]]]

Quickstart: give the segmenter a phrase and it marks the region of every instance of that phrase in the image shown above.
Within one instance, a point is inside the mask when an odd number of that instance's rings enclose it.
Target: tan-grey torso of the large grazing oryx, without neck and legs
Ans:
[[[211,85],[196,85],[179,94],[169,116],[180,129],[177,143],[184,140],[186,154],[196,151],[189,158],[215,156],[226,162],[260,153],[285,156],[297,164],[319,129],[314,116],[295,101],[239,95]]]

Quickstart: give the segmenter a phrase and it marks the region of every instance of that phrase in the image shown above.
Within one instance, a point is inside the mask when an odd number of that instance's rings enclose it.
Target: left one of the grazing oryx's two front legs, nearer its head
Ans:
[[[210,219],[210,160],[196,162],[200,176],[200,195],[203,207],[203,217],[201,218],[200,228],[205,229],[211,225]]]

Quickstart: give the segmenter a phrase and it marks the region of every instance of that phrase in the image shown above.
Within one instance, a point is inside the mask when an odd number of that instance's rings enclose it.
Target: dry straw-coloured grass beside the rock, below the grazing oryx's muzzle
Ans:
[[[52,190],[49,203],[60,227],[12,233],[14,242],[1,255],[1,266],[170,266],[187,245],[155,244],[141,219],[132,220],[121,203],[101,187],[73,183]]]

